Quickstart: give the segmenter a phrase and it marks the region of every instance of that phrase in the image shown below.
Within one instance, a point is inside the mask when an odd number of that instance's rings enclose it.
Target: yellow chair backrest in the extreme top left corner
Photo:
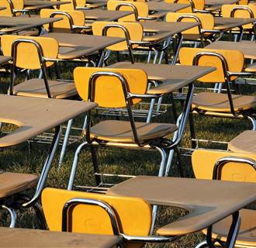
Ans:
[[[13,9],[24,9],[24,0],[0,0],[0,6],[6,8],[0,11],[0,16],[20,15],[20,12],[14,13]]]

